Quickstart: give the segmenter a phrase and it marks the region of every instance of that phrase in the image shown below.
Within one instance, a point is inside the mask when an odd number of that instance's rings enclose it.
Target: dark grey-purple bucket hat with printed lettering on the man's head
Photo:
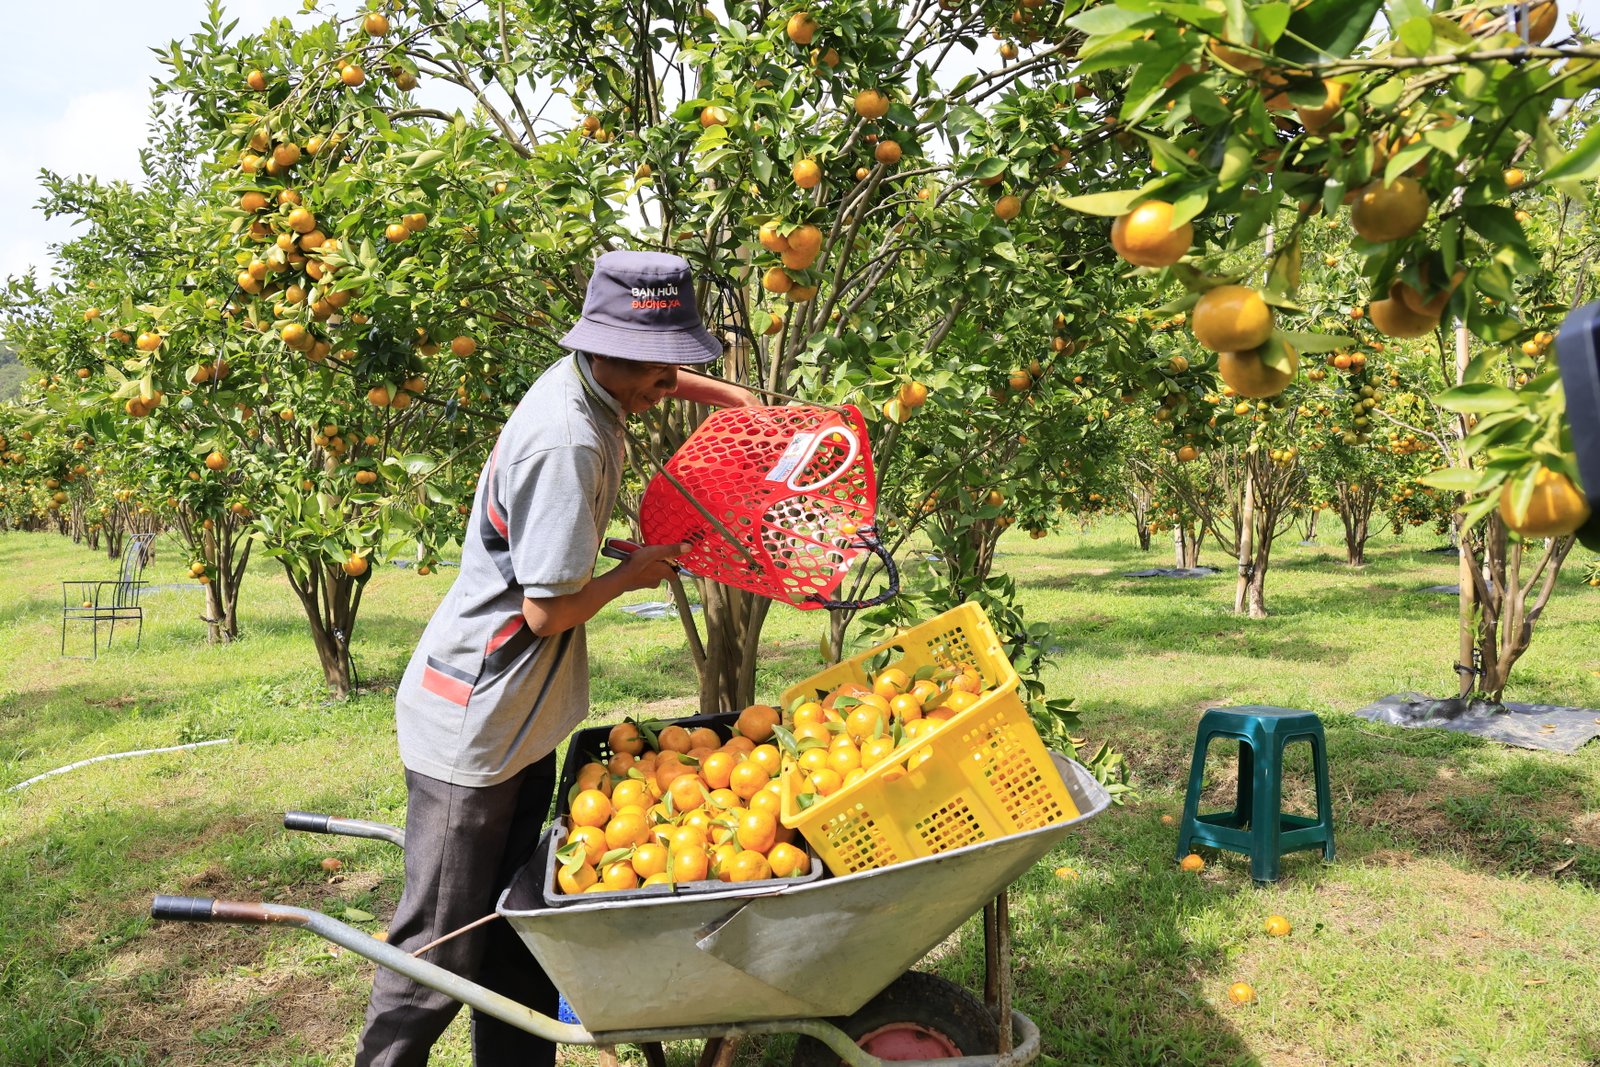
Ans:
[[[562,347],[640,363],[709,363],[722,355],[694,304],[688,261],[656,251],[608,251],[595,261],[584,314]]]

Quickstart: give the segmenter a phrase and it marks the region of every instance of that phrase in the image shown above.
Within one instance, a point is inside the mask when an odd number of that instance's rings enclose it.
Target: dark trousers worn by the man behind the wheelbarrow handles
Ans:
[[[390,944],[413,952],[494,912],[512,875],[528,862],[555,792],[555,753],[499,785],[450,785],[405,773],[405,888],[389,925]],[[424,960],[555,1017],[555,987],[504,920],[446,941]],[[411,1067],[461,1001],[386,968],[373,979],[357,1067]],[[477,1067],[550,1067],[555,1045],[472,1013]]]

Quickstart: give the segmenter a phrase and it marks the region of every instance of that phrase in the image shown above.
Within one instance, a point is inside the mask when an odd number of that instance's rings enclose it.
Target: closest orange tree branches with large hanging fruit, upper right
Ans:
[[[1350,293],[1350,304],[1365,304],[1365,317],[1390,338],[1461,325],[1461,355],[1442,382],[1453,389],[1435,400],[1462,413],[1466,440],[1459,469],[1432,480],[1478,494],[1462,523],[1488,518],[1491,545],[1496,523],[1555,537],[1533,577],[1496,582],[1522,590],[1512,601],[1480,598],[1472,608],[1464,600],[1464,653],[1474,651],[1467,616],[1477,611],[1483,661],[1477,673],[1466,667],[1464,689],[1498,696],[1554,587],[1563,541],[1570,547],[1566,536],[1586,515],[1554,374],[1530,374],[1520,387],[1486,381],[1498,366],[1493,349],[1474,358],[1472,344],[1531,339],[1542,325],[1541,301],[1530,299],[1522,278],[1539,267],[1539,240],[1552,258],[1573,245],[1562,232],[1530,227],[1533,214],[1507,198],[1534,195],[1538,186],[1582,200],[1600,174],[1600,138],[1587,133],[1581,104],[1600,51],[1557,34],[1554,3],[1446,13],[1394,5],[1381,27],[1376,11],[1374,2],[1314,0],[1298,8],[1099,5],[1074,16],[1070,24],[1088,34],[1080,70],[1118,72],[1128,86],[1118,122],[1149,144],[1152,168],[1144,184],[1130,174],[1120,194],[1070,203],[1118,216],[1112,240],[1125,258],[1170,269],[1189,290],[1178,307],[1242,283],[1267,304],[1262,314],[1243,296],[1221,301],[1214,344],[1192,314],[1202,344],[1238,346],[1235,374],[1293,376],[1285,346],[1304,352],[1307,331],[1285,323],[1301,312],[1293,294],[1302,240],[1314,221],[1336,219],[1344,205],[1366,290]],[[1546,45],[1552,34],[1558,46]],[[1275,251],[1267,277],[1230,267],[1227,253],[1261,237]],[[1520,563],[1520,553],[1514,544],[1509,561]],[[1478,582],[1466,568],[1464,589]],[[1517,605],[1536,582],[1541,593],[1523,611]],[[1494,633],[1499,651],[1490,657]]]

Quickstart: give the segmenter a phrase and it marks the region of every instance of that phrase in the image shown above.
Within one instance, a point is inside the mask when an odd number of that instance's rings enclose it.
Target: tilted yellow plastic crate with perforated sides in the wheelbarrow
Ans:
[[[795,800],[798,771],[784,774],[784,825],[798,830],[835,875],[1078,816],[1018,697],[1016,670],[982,608],[962,605],[829,667],[784,691],[784,707],[819,699],[850,681],[867,685],[869,662],[874,669],[898,664],[907,672],[966,664],[982,675],[987,693],[931,737],[898,750],[810,808],[800,809]]]

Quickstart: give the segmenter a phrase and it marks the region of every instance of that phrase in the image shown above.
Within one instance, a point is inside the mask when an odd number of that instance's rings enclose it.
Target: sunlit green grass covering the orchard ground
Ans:
[[[1138,552],[1126,523],[1003,542],[997,568],[1053,627],[1051,693],[1074,696],[1093,739],[1128,753],[1141,793],[1013,889],[1018,1001],[1045,1030],[1045,1062],[1600,1062],[1600,744],[1542,755],[1349,715],[1400,689],[1453,689],[1456,601],[1421,592],[1454,582],[1435,545],[1376,537],[1352,571],[1338,544],[1285,539],[1272,617],[1251,622],[1227,611],[1227,574],[1122,577],[1170,560]],[[0,1064],[350,1059],[370,965],[306,934],[155,926],[146,913],[152,894],[184,893],[366,912],[378,918],[362,925],[381,928],[398,851],[278,821],[290,808],[403,821],[392,686],[453,571],[381,568],[355,640],[360,693],[331,704],[275,563],[251,568],[245,638],[226,648],[205,645],[184,563],[163,541],[142,648],[118,635],[98,662],[69,661],[58,581],[110,577],[115,563],[56,536],[0,536],[0,790],[94,755],[230,739],[0,792]],[[1600,709],[1600,590],[1571,569],[1510,699]],[[773,611],[762,694],[816,670],[821,625]],[[86,632],[72,640],[86,651]],[[590,648],[594,723],[694,710],[677,622],[611,608]],[[1221,704],[1322,713],[1336,864],[1294,854],[1266,889],[1240,856],[1176,870],[1162,816],[1181,811],[1195,721]],[[1298,753],[1286,774],[1301,808],[1306,763]],[[1232,765],[1214,749],[1216,797]],[[325,873],[325,856],[342,870]],[[1077,877],[1054,877],[1062,865]],[[1288,937],[1262,933],[1274,912],[1293,921]],[[968,984],[981,966],[976,921],[923,965]],[[595,981],[626,987],[626,965],[597,953]],[[1229,1003],[1235,981],[1256,987],[1256,1005]],[[782,1057],[782,1043],[741,1054]],[[434,1062],[470,1062],[459,1021]]]

